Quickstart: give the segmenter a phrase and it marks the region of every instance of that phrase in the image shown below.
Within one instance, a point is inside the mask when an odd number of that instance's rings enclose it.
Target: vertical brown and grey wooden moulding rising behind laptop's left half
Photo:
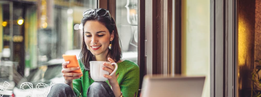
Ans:
[[[172,1],[145,1],[145,74],[170,74]]]

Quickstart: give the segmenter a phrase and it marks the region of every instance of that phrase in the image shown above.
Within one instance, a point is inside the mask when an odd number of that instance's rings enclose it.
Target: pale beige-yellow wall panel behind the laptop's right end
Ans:
[[[182,0],[181,70],[206,76],[203,97],[210,96],[210,1]]]

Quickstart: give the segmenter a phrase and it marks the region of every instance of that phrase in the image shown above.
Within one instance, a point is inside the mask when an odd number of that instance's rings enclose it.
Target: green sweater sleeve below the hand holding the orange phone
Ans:
[[[81,97],[81,91],[82,91],[81,78],[73,80],[73,91],[76,97]]]

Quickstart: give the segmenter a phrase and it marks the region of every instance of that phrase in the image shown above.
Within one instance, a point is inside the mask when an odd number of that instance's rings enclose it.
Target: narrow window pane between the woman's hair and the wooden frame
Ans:
[[[116,0],[116,25],[122,59],[138,63],[138,0]]]

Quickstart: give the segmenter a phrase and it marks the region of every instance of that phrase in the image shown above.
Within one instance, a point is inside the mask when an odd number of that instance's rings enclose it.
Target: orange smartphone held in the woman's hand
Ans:
[[[76,58],[76,55],[65,55],[63,54],[63,59],[64,61],[70,61],[70,63],[67,65],[67,68],[68,67],[80,67],[78,61],[77,61],[77,58]],[[81,69],[79,70],[74,70],[74,71],[71,71],[71,72],[79,72],[79,73],[82,73],[81,72]],[[81,75],[82,76],[82,75]]]

